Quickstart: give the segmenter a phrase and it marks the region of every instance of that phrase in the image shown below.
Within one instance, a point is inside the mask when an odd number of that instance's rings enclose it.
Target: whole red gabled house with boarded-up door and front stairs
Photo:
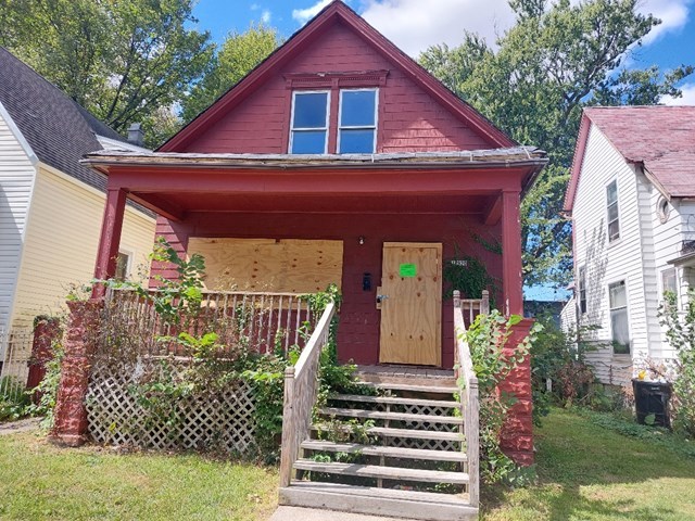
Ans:
[[[156,234],[181,258],[204,255],[212,316],[267,309],[277,317],[255,326],[263,350],[279,345],[274,332],[299,323],[296,295],[336,284],[338,359],[356,363],[363,384],[387,395],[332,396],[319,411],[327,420],[377,422],[365,427],[368,443],[315,437],[317,350],[328,338],[329,306],[285,374],[280,501],[473,519],[478,383],[463,332],[489,302],[522,316],[519,206],[546,161],[334,1],[157,151],[86,156],[85,165],[108,176],[96,276],[115,275],[119,224],[134,201],[159,215]],[[455,287],[473,264],[484,279]],[[162,262],[152,274],[177,276]],[[97,287],[89,305],[75,307],[76,323],[105,293]],[[529,327],[517,325],[510,350]],[[503,387],[517,396],[503,446],[530,465],[528,358]],[[80,392],[66,390],[59,407],[54,435],[66,443],[80,443],[90,429],[74,401]],[[371,462],[330,458],[343,452]],[[308,474],[329,482],[302,480]],[[417,492],[404,481],[429,485]],[[439,494],[432,483],[466,494]]]

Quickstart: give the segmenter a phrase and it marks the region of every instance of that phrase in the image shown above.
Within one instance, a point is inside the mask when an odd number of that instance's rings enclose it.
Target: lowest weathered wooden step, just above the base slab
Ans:
[[[406,469],[403,467],[381,467],[379,465],[355,465],[339,462],[318,462],[309,459],[298,459],[294,468],[309,472],[325,472],[328,474],[356,475],[359,478],[377,478],[394,481],[415,481],[427,483],[451,483],[465,485],[468,474],[465,472],[447,472],[443,470]]]

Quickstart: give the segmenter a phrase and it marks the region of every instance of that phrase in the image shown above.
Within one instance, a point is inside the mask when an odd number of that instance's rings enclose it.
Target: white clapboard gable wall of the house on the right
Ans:
[[[620,239],[609,243],[606,187],[612,180],[617,180],[618,185]],[[632,168],[601,130],[592,125],[572,212],[574,267],[576,270],[581,266],[585,266],[586,269],[587,309],[580,322],[582,326],[598,328],[585,332],[584,339],[609,342],[611,333],[608,284],[624,280],[633,354],[646,353],[648,350],[644,294],[645,284],[653,283],[644,279],[639,192],[644,192],[644,187],[639,185]],[[645,242],[648,243],[650,240],[650,237],[645,237]],[[611,347],[602,347],[590,358],[598,366],[602,381],[607,380],[614,365],[619,366],[623,373],[629,372],[629,368],[626,369],[624,366],[630,366],[630,357],[612,355]]]

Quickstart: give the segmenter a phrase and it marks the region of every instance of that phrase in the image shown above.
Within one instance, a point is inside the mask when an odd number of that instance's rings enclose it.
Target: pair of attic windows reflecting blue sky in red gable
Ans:
[[[338,114],[331,114],[330,90],[294,91],[291,154],[371,154],[377,148],[378,89],[340,89]],[[329,150],[331,127],[336,150]]]

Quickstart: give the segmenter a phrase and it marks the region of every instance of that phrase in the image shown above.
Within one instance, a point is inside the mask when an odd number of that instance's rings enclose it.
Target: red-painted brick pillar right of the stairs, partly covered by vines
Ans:
[[[523,319],[513,329],[505,353],[511,354],[519,343],[528,336],[533,320]],[[531,392],[531,357],[526,359],[509,373],[500,385],[500,391],[513,393],[517,403],[509,410],[509,416],[502,432],[502,449],[518,465],[533,463],[533,402]]]

